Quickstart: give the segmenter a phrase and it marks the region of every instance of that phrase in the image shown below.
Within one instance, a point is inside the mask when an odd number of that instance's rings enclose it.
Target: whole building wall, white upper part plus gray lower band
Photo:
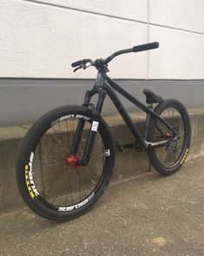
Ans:
[[[187,107],[204,104],[204,0],[0,0],[0,7],[0,126],[82,104],[93,80],[80,79],[96,72],[73,73],[72,62],[153,41],[159,49],[115,58],[110,77],[143,102],[148,87]],[[104,114],[115,114],[109,101]]]

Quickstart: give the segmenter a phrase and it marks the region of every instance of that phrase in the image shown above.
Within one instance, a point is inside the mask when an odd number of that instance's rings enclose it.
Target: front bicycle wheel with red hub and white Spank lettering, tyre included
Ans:
[[[89,164],[68,165],[76,127],[84,122],[76,156],[82,159],[92,128],[92,112],[82,106],[49,111],[23,139],[16,165],[16,181],[23,200],[46,219],[67,220],[81,215],[102,194],[115,162],[109,127],[99,119]]]

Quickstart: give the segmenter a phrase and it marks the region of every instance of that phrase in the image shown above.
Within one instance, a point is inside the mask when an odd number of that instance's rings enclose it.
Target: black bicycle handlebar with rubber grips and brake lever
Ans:
[[[101,61],[102,64],[107,65],[114,57],[116,57],[118,55],[122,55],[122,54],[128,53],[128,52],[148,51],[148,50],[156,49],[158,47],[159,47],[158,42],[136,45],[132,48],[124,49],[124,50],[121,50],[121,51],[115,51],[115,53],[111,54],[109,57],[106,57],[105,59],[100,59],[100,61]],[[89,63],[90,65],[93,65],[93,66],[97,67],[98,61],[99,61],[98,59],[93,61],[89,58],[84,58],[82,60],[78,60],[78,61],[72,63],[71,66],[73,68],[79,66],[79,68],[84,68],[85,69],[86,64]]]

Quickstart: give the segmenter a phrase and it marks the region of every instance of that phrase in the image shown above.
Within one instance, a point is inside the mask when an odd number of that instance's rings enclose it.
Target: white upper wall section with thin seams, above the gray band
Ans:
[[[204,78],[204,0],[34,2],[0,0],[0,77],[95,77],[70,64],[159,41],[115,58],[110,76]]]

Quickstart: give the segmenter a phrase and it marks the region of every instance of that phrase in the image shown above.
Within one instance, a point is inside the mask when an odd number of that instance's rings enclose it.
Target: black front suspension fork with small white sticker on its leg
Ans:
[[[96,94],[98,93],[98,101],[96,104],[96,108],[94,104],[90,104],[90,99]],[[81,160],[77,161],[77,165],[88,165],[89,163],[89,158],[90,158],[90,153],[92,150],[92,147],[94,145],[94,141],[95,141],[95,134],[99,125],[99,118],[100,118],[100,114],[102,111],[102,105],[104,102],[104,99],[106,97],[106,92],[104,90],[100,90],[99,92],[96,90],[92,90],[92,91],[87,91],[86,92],[86,96],[85,96],[85,100],[84,100],[84,106],[89,106],[91,111],[92,111],[92,115],[93,115],[93,122],[91,124],[90,130],[89,130],[89,137],[87,139],[87,143],[85,145],[85,149],[83,152],[83,157]],[[71,150],[69,155],[76,155],[76,152],[78,150],[81,138],[82,138],[82,131],[83,131],[83,127],[84,127],[84,122],[85,120],[80,119],[78,121],[77,127],[76,127],[76,132],[75,132],[75,136],[74,136],[74,140],[71,146]]]

